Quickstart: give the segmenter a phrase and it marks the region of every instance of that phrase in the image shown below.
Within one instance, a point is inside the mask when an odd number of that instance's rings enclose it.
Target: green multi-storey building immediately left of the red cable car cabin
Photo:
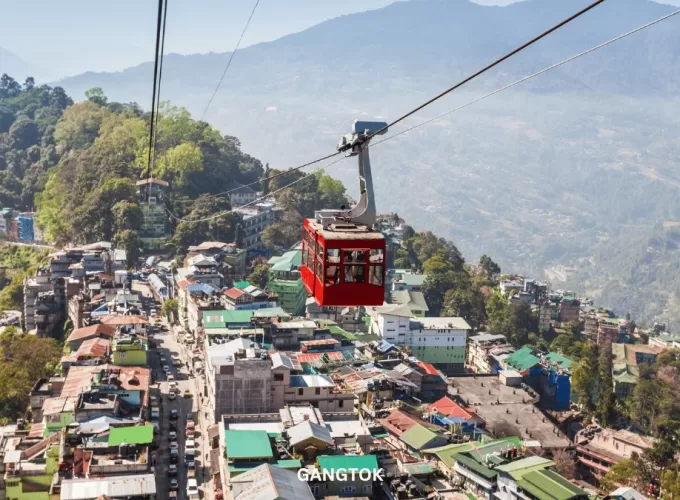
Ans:
[[[279,257],[269,259],[269,283],[267,290],[276,294],[284,311],[294,316],[304,314],[307,291],[300,279],[302,252],[291,250]]]

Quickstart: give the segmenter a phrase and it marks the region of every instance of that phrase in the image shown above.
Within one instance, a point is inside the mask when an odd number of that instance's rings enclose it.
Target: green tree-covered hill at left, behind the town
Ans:
[[[86,97],[74,104],[60,87],[2,77],[0,207],[35,207],[46,238],[57,245],[113,240],[136,250],[143,223],[136,182],[148,174],[150,114],[136,103],[109,102],[101,89]],[[234,237],[238,217],[228,212],[228,197],[210,195],[253,183],[272,192],[301,175],[261,182],[268,167],[242,152],[237,138],[168,103],[161,106],[155,155],[152,175],[169,183],[169,211],[190,220],[224,212],[201,223],[172,219],[170,243],[180,253],[205,239]],[[297,238],[302,218],[314,210],[347,203],[344,186],[321,171],[277,196],[286,215],[274,243]]]

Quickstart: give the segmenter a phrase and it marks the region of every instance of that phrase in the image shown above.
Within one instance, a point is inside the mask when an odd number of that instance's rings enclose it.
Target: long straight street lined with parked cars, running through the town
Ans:
[[[133,290],[140,293],[144,297],[151,297],[150,290],[146,284],[141,282],[133,282]],[[157,307],[157,309],[160,309]],[[156,475],[156,491],[159,500],[166,500],[169,498],[170,480],[176,478],[178,481],[177,498],[181,500],[187,499],[187,477],[189,468],[185,463],[185,443],[186,443],[186,422],[187,415],[192,415],[192,420],[196,425],[194,440],[196,442],[195,454],[195,477],[198,482],[200,496],[204,500],[212,500],[213,491],[210,481],[210,464],[207,461],[209,453],[207,436],[208,422],[205,415],[201,414],[201,405],[199,402],[199,394],[203,391],[203,379],[190,375],[192,369],[191,350],[179,340],[181,332],[180,328],[175,328],[163,323],[163,330],[153,334],[155,349],[149,350],[149,367],[153,372],[153,379],[156,384],[152,385],[152,392],[159,393],[160,402],[160,418],[159,418],[159,439],[158,449],[156,451],[155,475]],[[181,366],[173,365],[173,358],[179,358]],[[169,368],[166,374],[163,366]],[[170,400],[168,393],[170,392],[170,384],[168,376],[172,375],[177,384],[176,398]],[[185,397],[185,391],[189,391],[191,397]],[[177,410],[177,420],[171,420],[172,410]],[[177,433],[177,475],[170,475],[170,449],[172,441],[170,439],[171,425],[174,424]],[[174,444],[173,444],[174,446]]]

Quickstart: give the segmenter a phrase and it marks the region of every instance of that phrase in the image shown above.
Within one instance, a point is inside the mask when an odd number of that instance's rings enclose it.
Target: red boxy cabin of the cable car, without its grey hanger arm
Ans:
[[[385,299],[385,238],[367,226],[323,229],[306,219],[302,282],[320,306],[381,306]]]

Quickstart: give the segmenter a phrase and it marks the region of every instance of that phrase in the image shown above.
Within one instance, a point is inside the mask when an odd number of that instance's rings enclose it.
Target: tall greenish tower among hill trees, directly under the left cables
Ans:
[[[168,183],[161,179],[142,179],[137,181],[140,205],[144,221],[140,239],[148,249],[160,249],[165,246],[168,232],[168,217],[165,208],[165,190]]]

